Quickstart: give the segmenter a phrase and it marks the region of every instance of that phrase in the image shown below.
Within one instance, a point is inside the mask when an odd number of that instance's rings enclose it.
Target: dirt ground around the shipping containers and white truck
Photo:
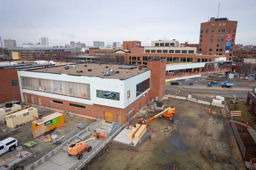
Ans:
[[[55,110],[48,109],[48,108],[42,108],[38,106],[34,106],[35,108],[38,109],[38,113],[41,113],[43,116],[49,115],[51,113],[56,112]],[[61,141],[65,141],[67,139],[70,139],[73,135],[79,133],[81,130],[78,129],[76,126],[82,122],[88,122],[92,123],[93,121],[88,121],[84,117],[80,116],[72,116],[71,114],[66,114],[65,116],[65,123],[66,126],[63,127],[63,129],[55,130],[52,132],[52,134],[56,134],[59,137],[64,136]],[[7,132],[3,133],[2,130],[6,129]],[[58,145],[53,144],[53,141],[50,142],[44,142],[42,136],[39,136],[37,138],[33,138],[33,133],[32,133],[32,126],[31,123],[24,125],[22,127],[19,127],[17,129],[12,129],[8,128],[5,124],[0,125],[0,140],[3,140],[7,137],[14,137],[15,139],[18,140],[19,145],[24,148],[25,151],[28,151],[32,153],[32,158],[27,159],[23,162],[23,165],[27,165],[30,163],[33,163],[37,159],[41,158],[45,154],[49,153],[52,149],[56,148]],[[37,144],[34,145],[33,147],[29,148],[23,145],[24,143],[28,141],[34,141]],[[0,156],[0,160],[7,159],[9,157],[8,153],[5,153],[4,155]],[[4,162],[1,162],[2,164]]]

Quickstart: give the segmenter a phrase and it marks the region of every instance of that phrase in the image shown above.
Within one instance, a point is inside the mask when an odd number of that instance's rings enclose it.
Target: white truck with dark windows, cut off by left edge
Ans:
[[[14,151],[15,148],[18,146],[18,141],[13,137],[8,137],[4,140],[0,141],[0,155],[8,152]]]

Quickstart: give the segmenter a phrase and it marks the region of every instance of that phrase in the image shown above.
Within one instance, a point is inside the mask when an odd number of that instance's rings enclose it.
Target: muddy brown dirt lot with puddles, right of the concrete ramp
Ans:
[[[152,120],[138,147],[112,141],[83,169],[245,169],[224,108],[179,99],[164,105],[175,106],[174,123]],[[165,132],[168,125],[173,131]]]

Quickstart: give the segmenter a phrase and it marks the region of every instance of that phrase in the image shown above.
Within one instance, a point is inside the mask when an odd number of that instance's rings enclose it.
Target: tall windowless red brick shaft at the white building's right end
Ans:
[[[150,100],[156,96],[161,100],[165,94],[166,60],[149,60],[147,69],[151,69]]]

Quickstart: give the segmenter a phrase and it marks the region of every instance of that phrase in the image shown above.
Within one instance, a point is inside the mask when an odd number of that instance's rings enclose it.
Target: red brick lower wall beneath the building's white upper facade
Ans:
[[[77,113],[77,114],[91,116],[91,117],[98,117],[101,119],[104,119],[105,111],[111,112],[111,113],[113,113],[113,122],[117,122],[117,115],[121,115],[121,123],[126,123],[128,120],[128,117],[134,115],[134,112],[127,115],[128,110],[130,110],[134,107],[135,112],[136,112],[136,111],[140,110],[141,108],[143,108],[147,104],[146,96],[141,96],[138,100],[136,100],[135,102],[133,102],[126,108],[120,109],[120,108],[102,106],[102,105],[97,105],[97,104],[87,105],[87,104],[81,104],[81,103],[76,103],[76,102],[69,102],[69,101],[65,101],[65,100],[47,98],[45,96],[39,96],[39,95],[29,94],[29,93],[23,93],[23,95],[27,95],[28,103],[31,103],[31,96],[33,96],[33,98],[34,98],[33,104],[35,104],[35,105],[38,105],[38,98],[40,98],[41,106],[54,108],[54,109],[58,109],[58,110],[68,110],[69,112],[72,112],[72,113]],[[60,102],[63,102],[63,104],[51,103],[50,100],[60,101]],[[86,109],[69,106],[70,103],[86,106]],[[140,106],[141,106],[141,108],[140,108]]]

